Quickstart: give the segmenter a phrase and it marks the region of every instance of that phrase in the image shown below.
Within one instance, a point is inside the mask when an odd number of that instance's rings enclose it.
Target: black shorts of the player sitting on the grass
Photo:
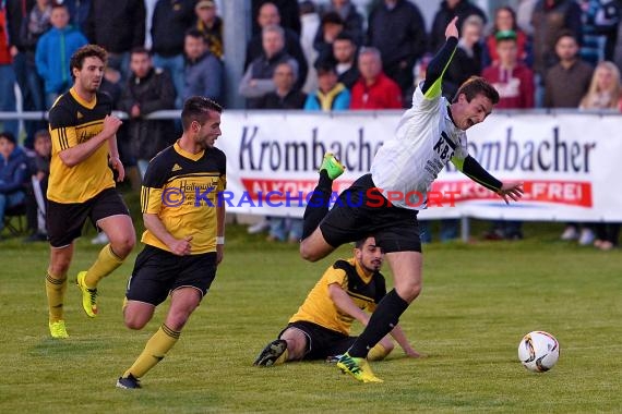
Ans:
[[[342,332],[334,331],[323,326],[298,320],[285,328],[278,337],[287,329],[296,328],[307,337],[307,349],[303,360],[325,360],[328,356],[342,355],[355,343],[357,337],[348,337]]]

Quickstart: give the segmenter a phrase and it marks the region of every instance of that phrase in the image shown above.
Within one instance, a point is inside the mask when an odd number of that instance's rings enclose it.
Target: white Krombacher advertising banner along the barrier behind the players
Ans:
[[[158,111],[148,118],[179,114]],[[346,166],[335,182],[336,194],[369,171],[400,114],[226,110],[216,144],[227,154],[223,203],[236,214],[302,217],[324,153],[334,153]],[[41,117],[41,112],[0,112],[0,121]],[[505,205],[450,165],[434,182],[429,208],[419,217],[622,221],[621,126],[615,112],[495,111],[467,132],[468,151],[500,180],[523,182],[523,200]]]

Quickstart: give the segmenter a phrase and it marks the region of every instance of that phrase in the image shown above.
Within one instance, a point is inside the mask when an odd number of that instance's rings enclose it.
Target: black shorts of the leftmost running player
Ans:
[[[82,228],[87,218],[97,227],[97,221],[119,215],[129,216],[130,211],[116,188],[106,188],[84,203],[48,200],[48,239],[52,247],[68,246],[82,235]]]

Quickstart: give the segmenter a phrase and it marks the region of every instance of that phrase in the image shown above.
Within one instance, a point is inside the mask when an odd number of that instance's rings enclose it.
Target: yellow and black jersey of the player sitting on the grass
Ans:
[[[337,260],[309,292],[304,303],[289,322],[306,320],[350,334],[355,318],[339,310],[331,300],[328,285],[333,283],[338,283],[359,308],[370,313],[375,310],[375,306],[386,294],[386,283],[382,273],[378,271],[368,273],[354,257],[348,260]]]

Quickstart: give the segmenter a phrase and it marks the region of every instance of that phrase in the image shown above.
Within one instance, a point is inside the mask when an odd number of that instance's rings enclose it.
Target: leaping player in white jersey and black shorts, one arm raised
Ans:
[[[482,122],[499,102],[494,87],[481,77],[471,77],[451,104],[441,95],[443,74],[458,42],[456,20],[447,25],[445,45],[430,62],[427,78],[415,90],[412,108],[402,117],[395,136],[378,151],[371,173],[355,181],[328,211],[333,180],[343,167],[327,154],[304,211],[302,258],[319,260],[344,243],[373,234],[393,271],[395,289],[380,302],[363,332],[337,363],[363,382],[381,381],[366,361],[368,351],[397,325],[421,292],[417,212],[426,208],[427,192],[439,172],[452,161],[506,203],[523,194],[523,183],[502,183],[467,151],[465,131]]]

